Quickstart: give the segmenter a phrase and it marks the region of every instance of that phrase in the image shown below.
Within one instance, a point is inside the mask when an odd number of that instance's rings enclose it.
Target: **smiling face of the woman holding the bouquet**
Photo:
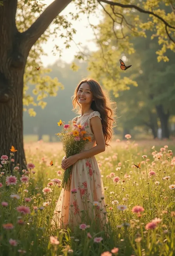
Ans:
[[[92,91],[88,83],[82,83],[77,93],[77,100],[80,104],[91,104],[93,100]]]

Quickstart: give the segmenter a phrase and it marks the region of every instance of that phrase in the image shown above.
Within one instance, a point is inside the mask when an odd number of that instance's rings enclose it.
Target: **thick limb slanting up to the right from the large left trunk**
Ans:
[[[56,18],[71,1],[72,0],[55,0],[43,11],[31,27],[23,32],[24,44],[27,45],[28,50],[31,49],[32,45],[41,37],[54,18]]]

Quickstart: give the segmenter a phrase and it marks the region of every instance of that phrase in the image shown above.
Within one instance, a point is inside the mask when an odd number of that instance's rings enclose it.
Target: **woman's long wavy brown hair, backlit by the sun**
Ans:
[[[98,111],[100,113],[100,117],[102,118],[102,129],[104,134],[104,140],[106,146],[109,146],[108,142],[112,140],[113,134],[113,127],[114,127],[114,117],[115,117],[115,110],[116,110],[116,102],[112,102],[109,99],[109,96],[106,91],[102,89],[100,84],[92,78],[83,78],[78,86],[75,89],[74,95],[72,96],[72,110],[78,110],[77,112],[80,113],[81,106],[77,99],[77,93],[79,91],[80,86],[82,83],[88,83],[93,95],[93,101],[91,104],[91,108],[94,111]]]

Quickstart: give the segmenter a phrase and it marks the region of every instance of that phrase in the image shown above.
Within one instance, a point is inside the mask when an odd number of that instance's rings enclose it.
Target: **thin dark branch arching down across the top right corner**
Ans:
[[[173,28],[175,29],[175,27],[171,26],[167,21],[165,21],[162,17],[158,16],[157,14],[153,13],[152,11],[146,11],[134,4],[120,4],[120,3],[116,3],[116,2],[113,2],[113,1],[108,1],[108,0],[97,0],[97,2],[103,2],[103,3],[106,3],[106,4],[110,4],[110,6],[120,6],[122,8],[134,8],[138,11],[140,11],[140,13],[147,13],[147,14],[151,14],[155,17],[157,17],[159,20],[161,20],[167,27],[169,28]]]

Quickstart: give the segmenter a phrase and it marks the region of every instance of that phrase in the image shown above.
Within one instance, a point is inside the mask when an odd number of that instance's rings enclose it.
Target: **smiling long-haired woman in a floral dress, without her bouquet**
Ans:
[[[75,89],[73,110],[80,116],[72,121],[85,128],[91,140],[79,154],[62,159],[62,168],[72,166],[71,191],[64,188],[59,196],[52,224],[65,228],[68,224],[107,222],[103,181],[95,155],[105,151],[112,136],[113,110],[111,102],[93,79],[83,79]],[[99,226],[99,225],[98,225]]]

